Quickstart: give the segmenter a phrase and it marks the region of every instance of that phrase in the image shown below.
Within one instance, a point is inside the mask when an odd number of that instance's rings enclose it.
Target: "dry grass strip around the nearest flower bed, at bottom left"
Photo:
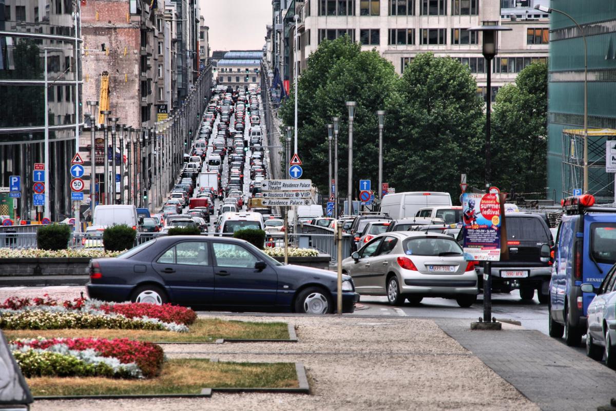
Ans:
[[[26,378],[34,396],[199,394],[202,388],[298,388],[295,364],[173,359],[149,380],[102,377]]]

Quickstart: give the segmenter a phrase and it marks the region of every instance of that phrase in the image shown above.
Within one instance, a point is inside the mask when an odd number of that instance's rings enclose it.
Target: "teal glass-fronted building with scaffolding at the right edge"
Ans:
[[[552,6],[582,26],[588,42],[588,192],[615,201],[606,142],[616,140],[616,3],[559,0]],[[553,12],[549,31],[548,198],[583,190],[584,43],[577,26]]]

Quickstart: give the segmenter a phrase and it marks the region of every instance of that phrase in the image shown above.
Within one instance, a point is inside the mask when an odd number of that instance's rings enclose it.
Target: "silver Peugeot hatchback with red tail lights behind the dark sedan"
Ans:
[[[342,272],[361,295],[386,295],[394,305],[442,297],[470,307],[479,293],[474,261],[465,261],[460,245],[444,234],[380,234],[344,259]]]

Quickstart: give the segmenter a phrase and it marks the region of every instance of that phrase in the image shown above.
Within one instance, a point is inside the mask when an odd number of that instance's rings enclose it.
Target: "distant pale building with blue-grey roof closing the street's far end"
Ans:
[[[263,51],[228,51],[217,63],[217,84],[245,87],[261,83],[261,60]]]

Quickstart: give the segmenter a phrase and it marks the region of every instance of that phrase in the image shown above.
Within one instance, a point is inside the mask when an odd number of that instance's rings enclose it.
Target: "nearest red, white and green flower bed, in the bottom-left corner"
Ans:
[[[36,338],[9,342],[26,377],[106,376],[151,378],[160,373],[160,346],[126,338]]]

